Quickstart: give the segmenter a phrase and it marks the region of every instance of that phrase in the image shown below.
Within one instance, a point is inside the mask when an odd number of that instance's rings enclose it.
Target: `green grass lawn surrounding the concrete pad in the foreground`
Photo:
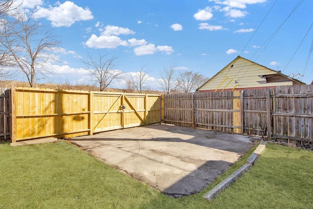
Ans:
[[[65,141],[2,143],[0,208],[312,208],[313,152],[276,144],[212,202],[202,198],[252,151],[201,193],[173,199]]]

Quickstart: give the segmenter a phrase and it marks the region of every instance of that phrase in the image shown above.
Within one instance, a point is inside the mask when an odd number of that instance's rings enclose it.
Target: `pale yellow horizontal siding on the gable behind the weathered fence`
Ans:
[[[232,68],[231,65],[233,65]],[[225,87],[225,89],[232,89],[237,83],[236,89],[292,85],[292,81],[259,83],[265,81],[262,76],[272,74],[278,73],[242,57],[238,57],[238,59],[235,59],[204,84],[199,91],[216,90],[221,84],[219,90],[223,90]],[[228,75],[229,77],[227,78]],[[227,79],[222,83],[225,78]]]

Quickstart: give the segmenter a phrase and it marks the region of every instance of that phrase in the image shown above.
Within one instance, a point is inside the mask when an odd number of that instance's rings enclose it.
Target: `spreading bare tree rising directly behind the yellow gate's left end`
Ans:
[[[94,81],[99,85],[100,91],[105,91],[115,80],[121,79],[123,72],[115,70],[114,61],[117,57],[107,58],[108,54],[102,55],[98,51],[98,56],[87,55],[87,60],[82,60],[94,77]]]

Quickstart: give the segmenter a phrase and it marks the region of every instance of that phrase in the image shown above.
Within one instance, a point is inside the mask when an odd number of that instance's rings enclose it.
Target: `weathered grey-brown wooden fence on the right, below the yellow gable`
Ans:
[[[313,85],[165,94],[161,115],[180,126],[313,142]]]

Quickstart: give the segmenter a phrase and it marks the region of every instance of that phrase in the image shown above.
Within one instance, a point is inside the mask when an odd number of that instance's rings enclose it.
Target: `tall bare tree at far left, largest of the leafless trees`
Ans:
[[[11,17],[11,20],[16,20],[14,23],[1,22],[1,48],[10,64],[26,75],[30,87],[34,87],[36,80],[46,77],[47,73],[53,73],[46,63],[56,61],[51,51],[60,45],[53,31],[37,21],[33,12],[28,18],[23,13]]]

